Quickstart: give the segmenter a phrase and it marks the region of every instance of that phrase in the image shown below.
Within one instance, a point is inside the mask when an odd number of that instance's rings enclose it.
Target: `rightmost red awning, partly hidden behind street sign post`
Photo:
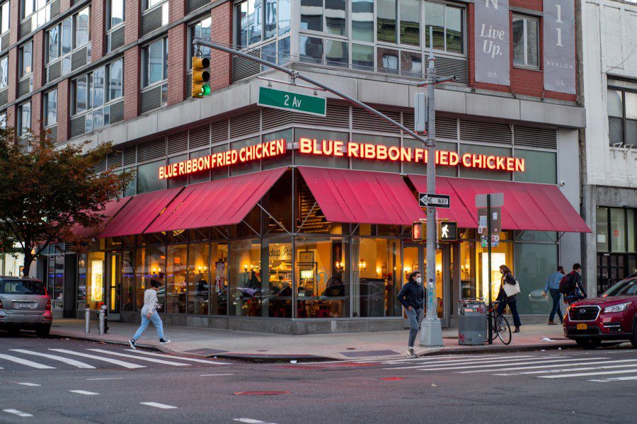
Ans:
[[[446,178],[477,227],[476,195],[504,193],[503,229],[590,232],[580,214],[555,185]]]

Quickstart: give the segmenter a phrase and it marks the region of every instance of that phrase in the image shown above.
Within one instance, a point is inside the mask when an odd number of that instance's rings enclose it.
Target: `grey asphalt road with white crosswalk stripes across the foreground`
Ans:
[[[635,419],[637,350],[631,348],[299,364],[141,352],[0,333],[0,423]],[[285,393],[241,394],[246,391]]]

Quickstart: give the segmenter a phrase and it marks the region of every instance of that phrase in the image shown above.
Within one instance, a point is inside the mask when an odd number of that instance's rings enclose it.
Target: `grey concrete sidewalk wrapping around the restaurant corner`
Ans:
[[[137,324],[109,322],[108,333],[100,336],[96,321],[91,321],[91,333],[84,333],[84,320],[57,319],[53,321],[51,334],[83,340],[104,341],[127,345],[127,340],[137,330]],[[199,356],[217,356],[243,360],[360,360],[406,352],[408,330],[377,333],[337,333],[306,336],[286,336],[249,331],[215,330],[166,326],[166,337],[172,340],[160,345],[155,330],[149,326],[138,345],[166,353]],[[534,324],[522,326],[513,334],[510,345],[494,340],[493,345],[458,345],[456,328],[442,331],[443,348],[418,348],[419,355],[436,353],[487,353],[515,350],[574,348],[575,342],[564,338],[562,326]],[[551,341],[543,341],[550,338]],[[417,342],[418,343],[418,342]]]

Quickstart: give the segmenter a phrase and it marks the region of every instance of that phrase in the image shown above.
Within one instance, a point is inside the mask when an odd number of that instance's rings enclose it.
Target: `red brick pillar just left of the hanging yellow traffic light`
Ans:
[[[185,23],[168,30],[168,105],[180,103],[185,98],[187,37]]]

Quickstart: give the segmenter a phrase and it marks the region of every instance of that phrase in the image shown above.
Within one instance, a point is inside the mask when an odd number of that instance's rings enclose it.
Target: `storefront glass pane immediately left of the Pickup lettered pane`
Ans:
[[[230,242],[230,315],[261,316],[261,241]]]

